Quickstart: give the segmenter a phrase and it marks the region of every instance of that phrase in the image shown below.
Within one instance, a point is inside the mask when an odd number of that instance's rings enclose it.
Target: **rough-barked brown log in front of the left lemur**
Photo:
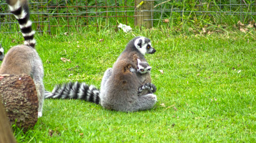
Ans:
[[[36,124],[38,99],[34,81],[29,75],[1,78],[0,98],[11,125],[15,124],[26,131]]]

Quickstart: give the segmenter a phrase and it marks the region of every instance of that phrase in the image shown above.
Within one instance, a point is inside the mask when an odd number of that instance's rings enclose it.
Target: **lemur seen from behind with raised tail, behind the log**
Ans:
[[[24,45],[17,45],[9,49],[0,67],[0,74],[28,74],[33,78],[38,97],[38,117],[42,116],[45,88],[42,82],[44,69],[41,59],[34,49],[35,40],[32,22],[29,18],[27,0],[6,0],[11,13],[19,23],[25,39]]]

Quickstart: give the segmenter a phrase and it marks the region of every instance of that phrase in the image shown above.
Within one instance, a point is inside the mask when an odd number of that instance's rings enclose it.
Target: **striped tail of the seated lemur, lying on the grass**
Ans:
[[[52,92],[45,92],[45,98],[81,99],[99,104],[99,90],[94,85],[69,82],[56,85]]]

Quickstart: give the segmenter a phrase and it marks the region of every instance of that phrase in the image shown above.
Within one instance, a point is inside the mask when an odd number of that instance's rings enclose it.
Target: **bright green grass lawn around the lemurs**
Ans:
[[[157,87],[158,102],[152,110],[126,113],[81,100],[46,99],[34,128],[23,133],[14,127],[17,141],[256,142],[255,30],[210,35],[156,29],[38,34],[46,90],[68,81],[100,88],[104,71],[134,35],[150,38],[157,50],[146,55]],[[23,41],[21,34],[0,39],[5,49]]]

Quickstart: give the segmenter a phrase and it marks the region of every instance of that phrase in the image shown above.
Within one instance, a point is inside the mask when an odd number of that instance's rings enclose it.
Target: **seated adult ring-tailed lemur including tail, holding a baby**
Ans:
[[[150,72],[141,74],[130,70],[137,69],[137,59],[146,62],[144,54],[155,51],[150,39],[136,37],[127,44],[113,69],[105,71],[100,92],[93,85],[70,82],[56,85],[51,93],[45,93],[45,98],[84,99],[118,111],[150,109],[157,102],[157,97],[153,94],[156,86],[150,83]]]

